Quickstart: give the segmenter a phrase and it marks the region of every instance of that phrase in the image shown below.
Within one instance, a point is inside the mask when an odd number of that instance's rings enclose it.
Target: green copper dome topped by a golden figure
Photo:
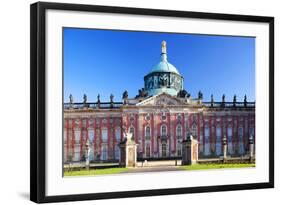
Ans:
[[[144,88],[148,95],[167,93],[176,96],[183,89],[183,77],[167,60],[166,42],[162,42],[161,61],[144,77]]]

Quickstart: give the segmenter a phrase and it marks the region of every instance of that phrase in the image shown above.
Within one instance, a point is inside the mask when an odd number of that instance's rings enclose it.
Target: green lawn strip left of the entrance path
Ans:
[[[95,176],[103,174],[118,174],[127,171],[128,168],[106,168],[106,169],[91,169],[79,171],[64,171],[64,176]]]

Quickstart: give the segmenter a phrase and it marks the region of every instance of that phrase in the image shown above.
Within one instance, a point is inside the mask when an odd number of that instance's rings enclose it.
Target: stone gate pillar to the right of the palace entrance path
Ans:
[[[196,164],[198,161],[198,142],[188,134],[182,141],[182,165]]]

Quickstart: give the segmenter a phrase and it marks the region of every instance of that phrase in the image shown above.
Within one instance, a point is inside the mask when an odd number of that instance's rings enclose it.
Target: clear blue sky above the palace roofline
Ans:
[[[157,32],[64,29],[64,100],[121,101],[128,90],[135,97],[143,77],[160,61],[161,42],[167,42],[168,61],[184,77],[184,88],[204,101],[255,100],[255,38]]]

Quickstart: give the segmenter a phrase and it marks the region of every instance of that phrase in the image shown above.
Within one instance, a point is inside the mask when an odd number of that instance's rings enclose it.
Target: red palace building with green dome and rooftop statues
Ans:
[[[64,161],[83,161],[85,146],[90,147],[91,161],[118,161],[119,143],[131,132],[138,144],[138,159],[180,158],[182,140],[191,134],[198,141],[200,158],[222,156],[223,138],[229,156],[248,154],[249,138],[255,139],[255,102],[220,102],[203,94],[193,98],[184,89],[184,78],[168,62],[166,42],[161,59],[144,76],[144,88],[129,98],[124,91],[122,102],[70,101],[64,103]],[[255,141],[254,141],[255,142]]]

